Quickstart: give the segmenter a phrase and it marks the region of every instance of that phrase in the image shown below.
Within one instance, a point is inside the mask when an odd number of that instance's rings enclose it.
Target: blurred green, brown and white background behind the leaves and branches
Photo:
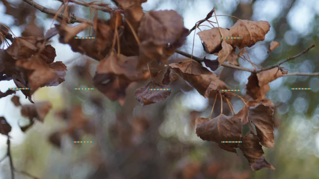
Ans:
[[[34,1],[55,10],[61,5],[55,0]],[[76,16],[90,19],[89,8],[71,3],[70,7]],[[145,11],[176,10],[184,17],[188,29],[205,18],[213,7],[218,15],[266,20],[271,24],[270,32],[264,41],[248,50],[250,59],[264,67],[298,54],[313,43],[319,45],[318,0],[148,0],[142,7]],[[109,18],[106,13],[99,12],[99,16]],[[0,23],[9,26],[16,36],[42,37],[52,26],[52,18],[21,0],[0,0]],[[214,18],[211,20],[215,21]],[[219,25],[224,28],[231,27],[236,20],[218,17]],[[201,27],[202,30],[207,28]],[[78,36],[87,35],[88,32],[83,32]],[[192,52],[193,35],[194,31],[181,50]],[[281,45],[267,54],[267,46],[272,40]],[[133,83],[127,89],[127,102],[121,107],[98,90],[73,90],[93,88],[92,77],[98,62],[73,53],[68,45],[58,42],[58,37],[50,43],[56,49],[55,61],[63,61],[68,71],[65,82],[56,87],[38,89],[33,96],[34,102],[47,100],[53,104],[44,123],[36,122],[22,132],[19,125],[26,124],[27,119],[21,117],[19,108],[11,103],[12,96],[0,99],[0,116],[12,126],[11,153],[18,170],[48,179],[319,178],[317,76],[287,76],[270,83],[267,98],[278,107],[278,120],[274,130],[275,146],[263,149],[266,160],[276,170],[252,172],[240,151],[238,155],[226,152],[215,143],[202,141],[196,136],[195,118],[209,117],[213,101],[205,99],[181,79],[171,84],[172,93],[165,101],[143,107],[134,99],[134,92],[146,82]],[[317,46],[283,67],[289,72],[319,72]],[[205,55],[198,35],[195,35],[193,54]],[[217,57],[210,55],[208,58]],[[174,54],[170,60],[186,59]],[[238,63],[252,68],[242,59]],[[219,74],[221,69],[215,73]],[[231,89],[242,89],[241,95],[244,96],[249,75],[249,72],[224,68],[220,78]],[[15,87],[13,81],[0,82],[1,91],[12,87]],[[20,91],[17,95],[21,104],[30,103]],[[237,98],[231,102],[236,113],[244,105]],[[228,105],[224,106],[225,109],[229,109]],[[220,102],[216,102],[213,117],[219,113]],[[70,134],[61,135],[64,129],[70,129]],[[73,144],[73,140],[94,143]],[[6,148],[6,137],[0,135],[0,158],[6,154]],[[0,163],[0,178],[10,178],[8,158]],[[16,178],[28,177],[16,174]]]

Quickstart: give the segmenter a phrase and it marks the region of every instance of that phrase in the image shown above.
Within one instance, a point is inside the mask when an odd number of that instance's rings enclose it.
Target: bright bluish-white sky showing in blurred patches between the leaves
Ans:
[[[11,0],[11,2],[14,2],[15,0]],[[35,2],[52,9],[57,9],[58,6],[61,4],[58,1],[54,0],[34,0]],[[276,17],[278,17],[283,9],[283,7],[286,5],[287,0],[259,0],[254,4],[254,12],[253,12],[253,20],[267,20],[271,23],[272,20],[274,20]],[[86,1],[89,2],[89,1]],[[143,4],[143,7],[145,10],[149,10],[155,7],[155,4],[158,3],[159,0],[148,0],[147,3]],[[200,19],[206,17],[206,14],[211,11],[214,4],[211,0],[198,0],[197,3],[189,6],[188,9],[186,9],[185,12],[183,12],[184,17],[184,25],[186,28],[190,29],[193,27],[193,25]],[[230,15],[232,11],[235,10],[236,4],[239,3],[239,1],[235,0],[216,0],[218,2],[219,6],[217,8],[217,14],[221,15]],[[245,0],[245,2],[250,2],[249,0]],[[217,4],[215,4],[217,6]],[[164,3],[159,6],[157,10],[164,10],[164,9],[174,9],[169,3]],[[0,4],[0,22],[4,23],[6,25],[12,25],[14,20],[11,16],[4,14],[5,7],[3,4]],[[80,14],[80,13],[78,13]],[[291,11],[289,12],[287,16],[287,20],[289,25],[292,27],[292,31],[288,31],[285,34],[285,40],[286,44],[289,45],[295,45],[297,41],[292,40],[293,35],[297,36],[306,36],[310,30],[312,30],[313,27],[313,21],[318,20],[315,19],[315,15],[319,14],[319,0],[297,0],[295,5],[292,7]],[[42,20],[45,15],[37,11],[37,17],[38,20],[43,23],[43,26],[45,28],[45,31],[48,30],[49,26],[51,25],[51,20]],[[83,16],[82,16],[83,17]],[[229,21],[229,17],[218,17],[219,19],[219,25],[221,27],[229,28],[232,26]],[[214,18],[212,18],[213,21],[215,21]],[[204,27],[202,30],[205,29]],[[310,30],[309,30],[310,29]],[[19,27],[12,27],[11,30],[16,34],[16,36],[20,36],[22,30]],[[197,31],[198,32],[198,31]],[[271,28],[271,31],[266,35],[265,41],[270,42],[274,39],[274,29]],[[193,35],[194,31],[189,35],[187,39],[187,47],[185,51],[188,53],[191,53],[191,44],[193,43]],[[287,38],[286,38],[287,36]],[[319,34],[318,34],[319,36]],[[58,43],[57,37],[53,38],[53,42],[51,44],[56,49],[56,61],[69,61],[71,60],[74,55],[78,55],[77,53],[73,53],[68,45],[63,45]],[[251,50],[250,56],[251,58],[256,59],[256,63],[263,62],[267,57],[268,54],[266,53],[267,49],[264,47],[256,48],[254,50]],[[194,55],[201,56],[203,53],[203,48],[201,45],[201,41],[198,38],[198,35],[195,36],[195,43],[194,43]],[[258,55],[257,55],[258,54]],[[216,58],[216,57],[215,57]],[[250,64],[244,61],[239,61],[239,63],[244,66],[251,68]],[[296,64],[291,66],[292,71],[298,71],[300,69],[300,66],[302,66],[302,69],[306,69],[306,71],[303,72],[312,72],[314,64],[309,61],[304,61],[301,64]],[[235,80],[240,84],[241,89],[245,88],[245,84],[248,82],[247,78],[249,76],[249,72],[243,72],[238,71],[234,74]],[[278,78],[277,80],[270,83],[271,91],[269,92],[269,96],[272,100],[274,100],[274,103],[285,103],[289,100],[291,96],[291,91],[287,86],[283,86],[284,82],[288,80],[288,78]],[[304,80],[299,77],[295,78],[289,78],[289,80],[292,80],[292,82],[296,80]],[[2,81],[0,82],[0,90],[6,91],[7,88],[14,87],[14,83],[12,81]],[[309,86],[313,89],[313,91],[318,92],[319,91],[319,78],[318,77],[312,77],[311,83]],[[51,88],[51,87],[50,87]],[[59,87],[54,87],[59,88]],[[281,90],[278,90],[281,88]],[[243,90],[244,93],[244,90]],[[17,95],[20,96],[21,103],[29,103],[28,100],[24,100],[24,95],[19,91],[17,92]],[[12,126],[12,132],[11,136],[13,138],[12,143],[19,143],[23,141],[23,133],[20,131],[18,127],[18,119],[21,118],[20,111],[13,106],[11,103],[11,97],[5,97],[0,99],[0,116],[4,116],[5,118],[9,119],[9,122]],[[189,96],[185,96],[183,98],[186,103],[184,104],[191,104],[189,105],[189,108],[194,108],[196,110],[203,110],[207,107],[207,100],[204,99],[201,95],[198,94],[197,91],[193,92]],[[197,99],[197,100],[194,100]],[[36,101],[36,99],[35,99]],[[237,102],[236,102],[237,103]],[[295,99],[295,104],[298,105],[291,105],[291,107],[294,108],[296,113],[299,113],[301,116],[303,115],[303,112],[307,110],[308,101],[304,100],[303,98],[297,98]],[[304,104],[305,108],[300,108],[301,104]],[[238,104],[239,105],[239,104]],[[235,112],[238,112],[240,108],[238,105],[234,105]],[[289,111],[287,108],[279,108],[279,112],[286,113]],[[303,116],[303,118],[305,118]],[[15,120],[12,120],[15,119]],[[312,118],[313,121],[316,121],[316,124],[319,126],[319,105],[317,107],[317,110],[314,113],[314,116]],[[301,120],[303,121],[303,120]],[[302,131],[302,130],[300,130]],[[319,136],[319,133],[318,133]],[[317,147],[319,148],[319,138],[317,139]],[[6,150],[6,138],[3,135],[0,135],[0,158],[5,154]],[[318,151],[317,151],[318,153]],[[319,156],[319,153],[318,153]]]

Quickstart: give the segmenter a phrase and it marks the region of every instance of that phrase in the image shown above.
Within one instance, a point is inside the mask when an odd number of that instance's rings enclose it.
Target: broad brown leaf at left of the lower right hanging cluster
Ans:
[[[229,152],[236,153],[238,143],[221,143],[221,141],[239,141],[241,138],[242,124],[237,116],[217,116],[216,118],[197,118],[196,134],[202,140],[213,141],[219,147]]]

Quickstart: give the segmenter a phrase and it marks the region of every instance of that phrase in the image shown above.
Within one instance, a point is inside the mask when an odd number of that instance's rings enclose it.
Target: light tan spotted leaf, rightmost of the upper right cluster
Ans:
[[[237,20],[229,31],[231,37],[240,37],[240,39],[234,39],[232,45],[241,49],[264,40],[269,30],[270,24],[267,21]]]

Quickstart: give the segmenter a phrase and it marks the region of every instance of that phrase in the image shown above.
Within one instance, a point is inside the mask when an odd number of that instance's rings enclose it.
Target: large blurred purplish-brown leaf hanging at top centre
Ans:
[[[166,64],[166,60],[185,42],[188,29],[183,17],[176,11],[149,11],[141,20],[137,36],[141,41],[138,68],[156,60]]]

